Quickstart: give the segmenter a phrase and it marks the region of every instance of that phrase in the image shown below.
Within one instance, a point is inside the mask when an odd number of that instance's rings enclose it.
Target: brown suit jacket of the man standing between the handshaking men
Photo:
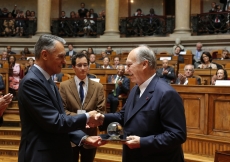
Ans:
[[[63,107],[67,115],[76,115],[77,110],[81,110],[81,99],[74,78],[61,82],[59,87]],[[83,110],[105,112],[104,90],[101,83],[88,79],[88,91],[82,106]],[[88,135],[97,135],[97,128],[84,129]]]

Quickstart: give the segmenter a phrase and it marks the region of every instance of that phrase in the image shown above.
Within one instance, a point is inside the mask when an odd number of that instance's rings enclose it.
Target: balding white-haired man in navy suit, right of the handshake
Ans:
[[[127,73],[137,85],[120,112],[100,115],[101,130],[111,122],[123,126],[123,162],[184,162],[184,107],[179,94],[156,74],[156,58],[147,46],[133,49]]]

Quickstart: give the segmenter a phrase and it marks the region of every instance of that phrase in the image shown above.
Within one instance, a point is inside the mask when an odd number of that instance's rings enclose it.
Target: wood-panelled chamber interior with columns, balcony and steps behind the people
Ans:
[[[230,6],[213,0],[9,0],[0,2],[0,74],[5,87],[1,94],[11,92],[9,81],[12,67],[8,59],[14,56],[20,64],[23,78],[29,59],[35,59],[34,45],[43,34],[57,35],[66,40],[65,51],[72,46],[76,53],[95,55],[98,67],[90,65],[89,73],[100,79],[105,99],[115,88],[108,78],[117,74],[115,58],[126,66],[129,52],[145,44],[156,56],[157,69],[163,60],[174,69],[169,84],[182,98],[186,116],[187,140],[183,143],[186,162],[230,161]],[[227,2],[227,0],[226,0]],[[81,3],[89,15],[81,15]],[[34,15],[27,15],[33,11]],[[10,13],[10,14],[9,14]],[[31,12],[32,13],[32,12]],[[72,16],[74,14],[74,16]],[[9,16],[10,15],[10,16]],[[96,16],[95,16],[96,15]],[[22,16],[22,17],[20,17]],[[25,52],[29,49],[29,53]],[[89,52],[91,48],[91,52]],[[109,49],[110,48],[110,49]],[[176,49],[179,48],[179,53]],[[9,53],[8,50],[13,51]],[[196,66],[195,56],[207,52],[209,64]],[[223,57],[223,53],[225,53]],[[106,56],[104,56],[106,55]],[[203,55],[203,54],[202,54]],[[72,56],[66,56],[61,79],[56,86],[73,78]],[[104,57],[109,58],[110,69],[104,69]],[[199,64],[202,64],[199,62]],[[203,63],[205,66],[205,62]],[[177,83],[179,74],[193,66],[193,78],[185,84]],[[226,82],[217,85],[217,70],[227,73]],[[129,77],[128,74],[125,74]],[[165,77],[163,77],[165,79]],[[224,79],[219,79],[224,80]],[[229,80],[229,81],[228,81]],[[216,85],[215,85],[216,84]],[[130,90],[135,83],[130,82]],[[16,162],[20,144],[21,125],[15,98],[3,114],[0,127],[0,161]],[[119,96],[120,111],[128,95]],[[105,103],[105,113],[110,112]],[[101,134],[98,130],[98,134]],[[97,148],[95,162],[121,162],[122,144],[111,141]]]

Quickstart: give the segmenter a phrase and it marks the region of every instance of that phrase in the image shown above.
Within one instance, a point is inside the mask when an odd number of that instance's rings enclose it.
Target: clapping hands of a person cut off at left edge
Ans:
[[[0,125],[3,123],[3,113],[13,99],[13,94],[6,94],[0,97]]]

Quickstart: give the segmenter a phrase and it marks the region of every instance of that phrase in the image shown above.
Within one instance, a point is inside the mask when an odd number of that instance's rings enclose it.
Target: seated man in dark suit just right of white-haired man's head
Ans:
[[[172,67],[168,66],[168,60],[162,60],[162,68],[157,70],[156,75],[163,78],[168,84],[171,84],[175,79],[175,71]]]

